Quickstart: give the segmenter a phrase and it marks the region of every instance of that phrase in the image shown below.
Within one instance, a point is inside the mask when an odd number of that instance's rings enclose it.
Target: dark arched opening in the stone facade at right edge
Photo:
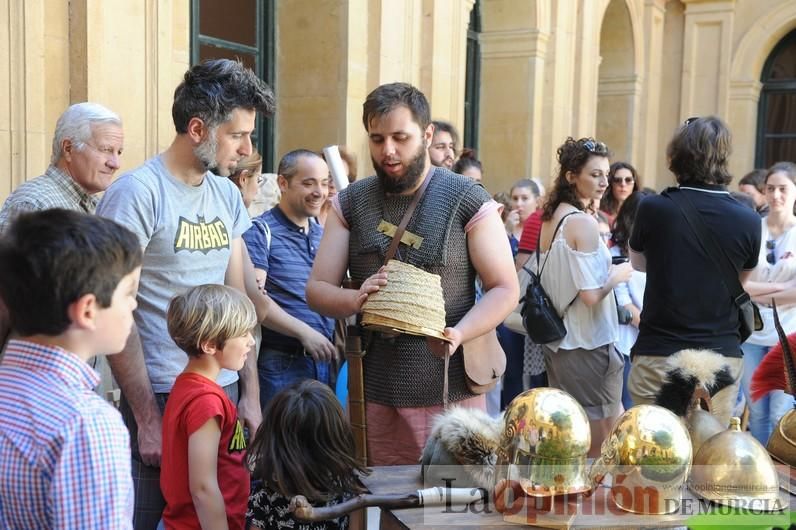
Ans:
[[[796,30],[774,47],[760,81],[756,167],[796,160]]]

